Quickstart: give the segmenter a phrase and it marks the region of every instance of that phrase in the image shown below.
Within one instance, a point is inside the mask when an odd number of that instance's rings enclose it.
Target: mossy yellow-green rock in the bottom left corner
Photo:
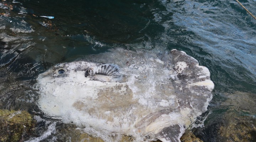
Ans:
[[[33,119],[27,111],[0,110],[0,141],[17,142],[31,131]]]

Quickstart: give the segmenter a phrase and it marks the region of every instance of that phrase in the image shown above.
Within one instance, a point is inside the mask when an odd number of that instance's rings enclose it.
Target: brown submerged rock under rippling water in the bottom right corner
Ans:
[[[223,142],[256,141],[256,95],[245,92],[226,94],[228,107],[218,134]]]

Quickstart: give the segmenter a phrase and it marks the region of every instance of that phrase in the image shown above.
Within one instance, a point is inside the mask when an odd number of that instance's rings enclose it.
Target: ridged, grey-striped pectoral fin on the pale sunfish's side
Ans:
[[[97,67],[93,80],[99,81],[120,81],[122,76],[120,74],[120,68],[115,64],[102,64]]]

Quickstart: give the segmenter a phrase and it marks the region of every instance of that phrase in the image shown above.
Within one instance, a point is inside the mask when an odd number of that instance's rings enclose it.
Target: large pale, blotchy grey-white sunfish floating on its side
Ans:
[[[86,60],[57,64],[37,78],[39,108],[113,141],[179,142],[212,99],[210,72],[176,49],[110,49]],[[148,139],[147,139],[148,138]]]

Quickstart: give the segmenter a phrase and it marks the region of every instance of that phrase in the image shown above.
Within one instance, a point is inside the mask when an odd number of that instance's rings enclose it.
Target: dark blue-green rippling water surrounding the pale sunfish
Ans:
[[[255,0],[240,2],[256,15]],[[38,113],[31,86],[54,64],[110,48],[178,49],[215,84],[199,138],[224,141],[231,116],[256,123],[256,20],[235,0],[6,0],[0,13],[1,109]]]

